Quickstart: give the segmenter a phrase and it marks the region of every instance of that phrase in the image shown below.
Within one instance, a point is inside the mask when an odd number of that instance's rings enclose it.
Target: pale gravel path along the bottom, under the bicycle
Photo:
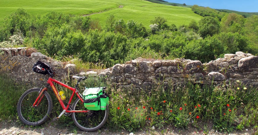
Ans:
[[[245,129],[243,131],[233,132],[231,134],[222,134],[209,129],[207,135],[252,135],[251,129]],[[134,133],[127,131],[111,131],[107,128],[101,128],[96,132],[85,132],[74,127],[60,128],[55,123],[48,122],[40,127],[29,127],[23,124],[19,124],[14,120],[2,121],[0,123],[0,135],[204,135],[202,130],[195,128],[189,128],[189,130],[180,131],[175,127],[166,127],[162,130],[157,130],[155,127],[152,129],[139,130]]]

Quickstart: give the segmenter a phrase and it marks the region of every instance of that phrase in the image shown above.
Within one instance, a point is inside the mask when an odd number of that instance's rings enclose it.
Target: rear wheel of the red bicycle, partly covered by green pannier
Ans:
[[[85,110],[84,104],[82,101],[77,98],[72,105],[72,110]],[[108,118],[109,108],[108,105],[106,110],[93,111],[89,112],[73,112],[72,118],[75,125],[83,131],[91,132],[96,131],[101,128]]]

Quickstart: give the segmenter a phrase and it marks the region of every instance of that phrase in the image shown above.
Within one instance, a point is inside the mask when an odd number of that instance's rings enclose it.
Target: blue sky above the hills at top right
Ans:
[[[258,0],[164,0],[173,3],[198,5],[214,9],[230,9],[240,12],[258,12]]]

